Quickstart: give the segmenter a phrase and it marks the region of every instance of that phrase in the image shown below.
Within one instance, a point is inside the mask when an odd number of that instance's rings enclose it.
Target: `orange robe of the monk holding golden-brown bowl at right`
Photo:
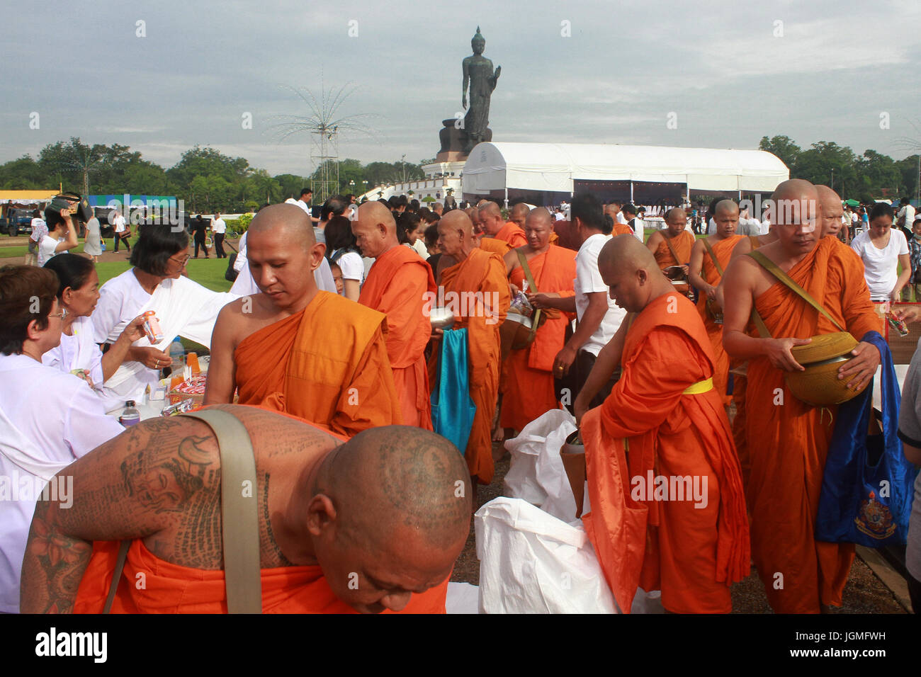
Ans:
[[[787,274],[859,341],[882,332],[869,300],[863,265],[832,238],[819,240]],[[832,322],[783,283],[755,299],[755,309],[776,338],[833,333]],[[752,515],[752,558],[776,613],[819,613],[841,604],[854,560],[851,543],[821,543],[813,536],[822,473],[838,407],[797,400],[784,372],[767,357],[749,362],[745,432],[752,472],[747,488]],[[776,582],[782,575],[783,588]]]

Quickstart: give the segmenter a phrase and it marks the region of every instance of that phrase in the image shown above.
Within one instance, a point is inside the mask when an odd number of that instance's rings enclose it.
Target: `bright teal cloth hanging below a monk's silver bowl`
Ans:
[[[460,449],[461,454],[467,449],[476,414],[476,405],[470,397],[469,364],[467,330],[447,330],[441,340],[438,387],[432,393],[432,427]]]

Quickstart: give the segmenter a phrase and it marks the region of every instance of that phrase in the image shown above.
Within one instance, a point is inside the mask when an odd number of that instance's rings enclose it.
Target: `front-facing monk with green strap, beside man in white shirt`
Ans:
[[[528,244],[509,251],[505,256],[509,282],[521,289],[526,281],[519,262],[521,252],[528,262],[537,289],[553,297],[574,297],[576,252],[550,244],[553,220],[542,207],[532,209],[525,223]],[[534,334],[533,342],[520,350],[512,350],[503,362],[508,368],[506,388],[502,395],[500,425],[521,430],[535,418],[559,407],[554,391],[554,358],[565,344],[566,324],[572,315],[559,310],[544,310],[547,320]]]

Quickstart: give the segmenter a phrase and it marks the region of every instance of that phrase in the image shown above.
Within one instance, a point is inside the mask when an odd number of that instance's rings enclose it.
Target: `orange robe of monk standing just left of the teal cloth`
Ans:
[[[431,267],[408,247],[392,247],[371,266],[358,303],[387,316],[387,355],[403,425],[431,430],[425,352],[432,325],[423,312],[428,294],[437,294]]]

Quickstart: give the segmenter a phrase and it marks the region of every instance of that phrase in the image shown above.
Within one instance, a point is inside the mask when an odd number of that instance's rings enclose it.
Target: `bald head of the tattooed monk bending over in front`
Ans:
[[[332,591],[357,611],[396,611],[411,593],[440,584],[470,531],[467,463],[421,428],[359,433],[326,456],[307,489],[316,559]]]

